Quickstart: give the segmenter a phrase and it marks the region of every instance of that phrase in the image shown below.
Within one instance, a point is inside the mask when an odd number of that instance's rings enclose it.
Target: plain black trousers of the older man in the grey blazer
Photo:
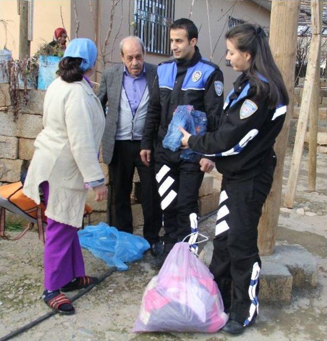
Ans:
[[[137,168],[141,180],[143,236],[151,245],[159,241],[162,211],[156,190],[154,167],[153,165],[146,167],[142,163],[141,156],[139,156],[140,143],[140,141],[116,141],[109,172],[114,192],[115,227],[120,231],[133,233],[130,195],[134,168]]]

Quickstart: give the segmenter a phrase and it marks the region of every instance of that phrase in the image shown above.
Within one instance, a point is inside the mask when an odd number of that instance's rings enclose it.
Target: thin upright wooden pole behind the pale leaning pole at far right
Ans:
[[[319,12],[322,13],[322,2],[320,2]],[[322,26],[322,15],[320,15],[320,32]],[[309,191],[316,190],[316,176],[317,176],[317,135],[318,135],[318,116],[319,116],[319,90],[320,90],[320,53],[321,53],[321,37],[318,53],[318,65],[316,67],[316,79],[313,86],[313,100],[310,107],[312,108],[309,114],[309,173],[308,173],[308,187]]]

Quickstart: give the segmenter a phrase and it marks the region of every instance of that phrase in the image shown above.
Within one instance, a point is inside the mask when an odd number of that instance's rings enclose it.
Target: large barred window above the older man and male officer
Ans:
[[[169,26],[174,21],[175,0],[134,0],[135,32],[150,53],[171,55]]]

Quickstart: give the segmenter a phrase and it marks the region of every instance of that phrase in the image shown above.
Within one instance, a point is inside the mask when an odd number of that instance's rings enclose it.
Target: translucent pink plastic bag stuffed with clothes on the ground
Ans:
[[[147,285],[133,332],[214,333],[228,320],[214,277],[185,242]]]

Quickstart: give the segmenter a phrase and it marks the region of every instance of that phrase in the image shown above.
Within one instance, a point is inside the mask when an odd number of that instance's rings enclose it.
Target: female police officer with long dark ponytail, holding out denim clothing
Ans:
[[[183,133],[182,146],[217,156],[223,174],[214,254],[210,265],[230,318],[223,330],[242,333],[258,314],[258,223],[270,191],[288,95],[262,28],[250,24],[226,33],[227,57],[242,74],[224,103],[218,130]],[[231,301],[231,282],[233,299]]]

